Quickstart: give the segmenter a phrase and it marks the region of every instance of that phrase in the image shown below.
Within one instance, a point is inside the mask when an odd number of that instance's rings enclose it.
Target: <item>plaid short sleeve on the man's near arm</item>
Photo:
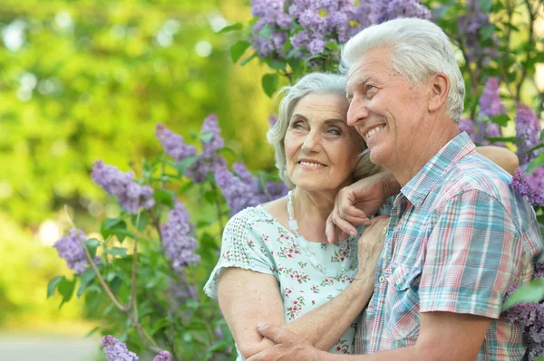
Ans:
[[[426,244],[420,311],[499,318],[522,252],[520,233],[500,202],[484,192],[456,195],[436,220]]]

